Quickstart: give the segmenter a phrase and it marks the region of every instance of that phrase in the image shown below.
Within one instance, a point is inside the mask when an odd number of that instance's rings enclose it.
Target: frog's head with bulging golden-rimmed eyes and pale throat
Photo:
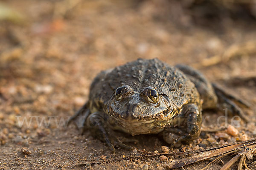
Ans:
[[[109,115],[128,133],[154,133],[156,122],[168,122],[174,116],[168,96],[156,88],[134,90],[129,85],[116,88],[108,105]],[[156,132],[157,133],[157,132]]]

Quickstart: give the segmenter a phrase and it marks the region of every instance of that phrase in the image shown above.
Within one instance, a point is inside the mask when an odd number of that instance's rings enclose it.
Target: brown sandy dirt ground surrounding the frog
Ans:
[[[185,2],[185,1],[182,1]],[[256,113],[256,22],[253,17],[198,16],[185,3],[164,0],[4,0],[22,14],[0,21],[0,169],[161,170],[178,159],[140,156],[80,135],[67,119],[88,99],[100,71],[139,57],[198,68],[212,82],[252,104]],[[240,79],[238,80],[237,77]],[[251,79],[251,77],[254,77]],[[243,81],[244,80],[244,81]],[[204,111],[204,129],[218,128],[220,111]],[[26,122],[27,120],[27,122]],[[228,116],[227,125],[232,120]],[[31,121],[31,122],[30,122]],[[21,125],[23,122],[23,125]],[[225,125],[225,119],[221,119]],[[237,122],[238,134],[202,132],[170,152],[199,149],[256,137],[256,124]],[[129,136],[138,150],[162,152],[157,135]],[[166,149],[166,148],[165,148]],[[223,158],[226,163],[232,156]],[[115,160],[119,159],[119,160]],[[219,161],[209,167],[217,170]],[[210,160],[184,167],[203,168]],[[80,164],[80,165],[79,165]],[[236,163],[231,169],[237,169]],[[255,157],[248,161],[256,167]],[[146,166],[144,166],[146,169]]]

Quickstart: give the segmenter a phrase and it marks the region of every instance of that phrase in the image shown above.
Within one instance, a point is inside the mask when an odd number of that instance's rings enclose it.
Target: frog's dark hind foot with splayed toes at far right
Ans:
[[[226,109],[227,111],[240,116],[244,121],[250,122],[250,119],[244,114],[240,107],[250,108],[250,104],[229,94],[224,91],[220,86],[213,84],[212,87],[215,90],[215,94],[218,96],[218,108]],[[240,106],[240,107],[239,107]]]

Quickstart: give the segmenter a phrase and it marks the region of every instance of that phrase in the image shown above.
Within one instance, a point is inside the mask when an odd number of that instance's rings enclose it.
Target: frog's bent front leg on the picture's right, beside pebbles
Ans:
[[[171,126],[162,132],[163,139],[172,145],[196,139],[201,130],[202,113],[195,104],[183,106],[181,114],[177,116]]]

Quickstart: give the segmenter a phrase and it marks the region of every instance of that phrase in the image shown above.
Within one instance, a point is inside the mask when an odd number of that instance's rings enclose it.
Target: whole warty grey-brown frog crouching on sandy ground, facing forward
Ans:
[[[248,121],[239,105],[250,107],[188,65],[137,59],[100,72],[88,102],[69,122],[90,130],[113,152],[115,146],[130,148],[115,131],[159,134],[172,147],[198,138],[204,109],[228,108]]]

